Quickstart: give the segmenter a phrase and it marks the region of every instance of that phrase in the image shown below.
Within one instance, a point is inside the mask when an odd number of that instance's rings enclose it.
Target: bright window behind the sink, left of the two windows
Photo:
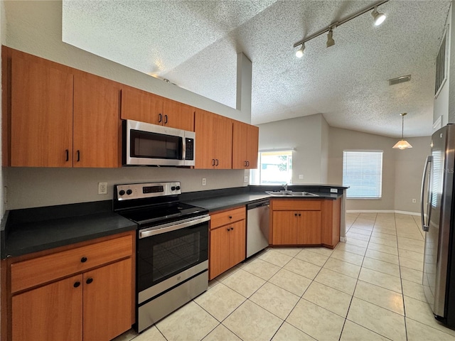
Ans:
[[[250,171],[252,185],[282,185],[291,183],[292,151],[261,151],[258,169]]]

